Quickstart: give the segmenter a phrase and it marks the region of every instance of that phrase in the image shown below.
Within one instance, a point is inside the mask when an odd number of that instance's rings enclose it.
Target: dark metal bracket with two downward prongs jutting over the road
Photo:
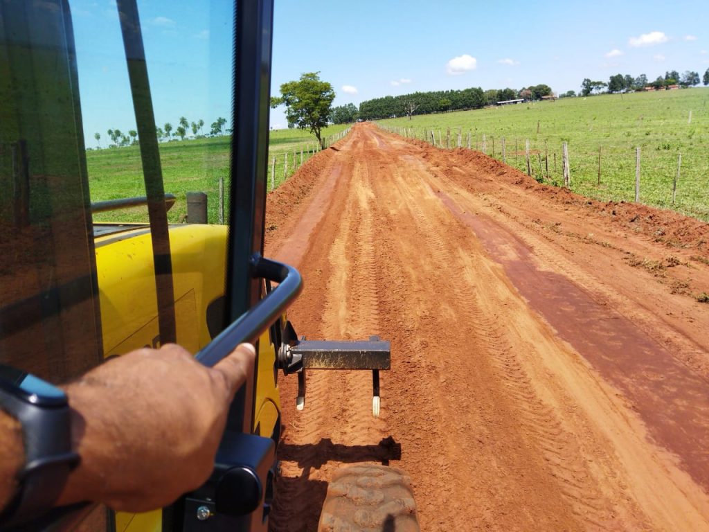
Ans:
[[[391,344],[378,336],[369,340],[306,340],[303,336],[298,340],[293,326],[287,322],[279,350],[279,367],[286,375],[298,375],[298,410],[305,407],[305,370],[371,371],[372,414],[379,417],[379,370],[391,368]]]

